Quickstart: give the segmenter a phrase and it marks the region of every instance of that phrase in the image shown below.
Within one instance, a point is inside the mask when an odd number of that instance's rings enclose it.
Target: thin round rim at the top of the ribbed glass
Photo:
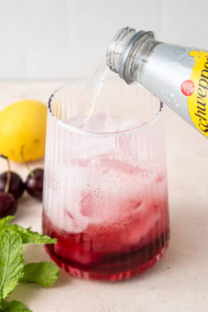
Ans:
[[[112,78],[112,76],[111,76],[111,78]],[[109,77],[107,77],[107,79],[109,80]],[[51,100],[52,100],[53,96],[56,95],[56,93],[59,92],[61,89],[65,88],[67,86],[75,85],[75,84],[78,84],[78,83],[81,83],[81,82],[85,82],[85,81],[87,81],[87,79],[78,79],[78,80],[74,80],[72,82],[69,82],[69,83],[66,83],[65,85],[60,86],[58,89],[56,89],[52,93],[52,95],[50,96],[50,98],[48,100],[47,108],[48,108],[48,112],[49,112],[49,118],[52,118],[57,125],[59,125],[60,127],[64,128],[65,130],[68,130],[68,131],[76,133],[76,134],[86,135],[86,136],[116,137],[116,136],[121,136],[121,135],[133,134],[133,133],[141,131],[141,130],[143,130],[145,128],[148,128],[149,126],[154,124],[157,121],[157,119],[159,118],[159,116],[162,114],[163,103],[160,100],[158,100],[158,102],[160,102],[160,108],[157,111],[157,113],[154,114],[152,116],[152,118],[150,118],[147,122],[141,124],[138,127],[134,127],[134,128],[131,128],[131,129],[117,131],[117,132],[91,132],[91,131],[82,130],[82,129],[70,126],[68,124],[65,124],[60,119],[56,118],[56,116],[52,113],[52,110],[51,110]],[[144,89],[144,87],[142,85],[140,85],[139,83],[138,83],[138,87]]]

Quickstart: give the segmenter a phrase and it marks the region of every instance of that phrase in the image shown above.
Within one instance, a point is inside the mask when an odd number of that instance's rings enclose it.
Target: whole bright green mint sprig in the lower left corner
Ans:
[[[59,271],[51,262],[29,263],[24,266],[23,243],[54,244],[56,239],[9,224],[13,216],[0,219],[0,312],[30,312],[21,302],[4,300],[19,282],[36,283],[43,287],[56,282]]]

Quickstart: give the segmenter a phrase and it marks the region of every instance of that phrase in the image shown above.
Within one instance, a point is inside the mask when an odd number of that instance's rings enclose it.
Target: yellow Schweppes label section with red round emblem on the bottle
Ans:
[[[192,50],[195,64],[190,80],[181,84],[181,92],[187,96],[188,110],[195,126],[208,137],[208,52]]]

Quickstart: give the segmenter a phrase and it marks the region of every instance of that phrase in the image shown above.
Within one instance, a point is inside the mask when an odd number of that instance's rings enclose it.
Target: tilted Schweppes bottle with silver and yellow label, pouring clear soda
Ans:
[[[106,63],[208,138],[208,51],[157,41],[152,31],[126,27],[111,40]]]

